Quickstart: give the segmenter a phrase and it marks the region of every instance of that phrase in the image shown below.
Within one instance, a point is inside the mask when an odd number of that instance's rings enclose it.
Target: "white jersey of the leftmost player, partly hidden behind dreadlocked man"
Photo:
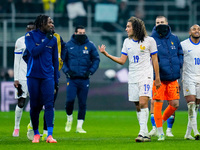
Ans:
[[[27,80],[26,79],[27,64],[22,58],[25,49],[26,49],[25,36],[22,36],[18,38],[15,43],[14,81]]]

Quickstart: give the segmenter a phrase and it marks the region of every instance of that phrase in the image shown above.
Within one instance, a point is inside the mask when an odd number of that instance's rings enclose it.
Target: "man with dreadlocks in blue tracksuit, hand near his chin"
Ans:
[[[39,143],[39,114],[44,105],[47,123],[47,143],[57,143],[53,139],[54,86],[58,85],[58,47],[53,36],[53,20],[39,15],[35,20],[36,30],[25,35],[26,48],[30,54],[27,64],[27,84],[30,94],[30,116],[33,124],[33,143]]]

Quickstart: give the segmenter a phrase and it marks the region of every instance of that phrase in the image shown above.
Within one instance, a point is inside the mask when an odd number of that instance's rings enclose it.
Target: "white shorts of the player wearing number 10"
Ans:
[[[200,83],[183,81],[183,95],[195,95],[197,99],[200,99]]]

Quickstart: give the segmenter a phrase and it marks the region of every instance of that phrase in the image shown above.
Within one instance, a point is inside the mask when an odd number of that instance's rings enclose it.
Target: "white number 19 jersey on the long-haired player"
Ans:
[[[156,42],[152,37],[145,37],[143,42],[126,38],[122,54],[129,58],[128,83],[138,83],[146,79],[153,81],[153,65],[151,56],[157,53]]]

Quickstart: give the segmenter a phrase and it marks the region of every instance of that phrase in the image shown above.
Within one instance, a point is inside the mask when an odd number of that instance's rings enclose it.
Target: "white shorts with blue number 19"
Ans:
[[[129,83],[128,84],[128,95],[129,101],[139,102],[140,96],[147,96],[152,99],[152,79],[147,79],[138,83]]]

